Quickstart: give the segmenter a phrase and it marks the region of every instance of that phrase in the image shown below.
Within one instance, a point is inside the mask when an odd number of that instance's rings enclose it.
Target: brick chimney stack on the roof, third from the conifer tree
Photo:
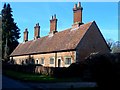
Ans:
[[[52,19],[50,20],[50,33],[54,34],[57,32],[57,19],[56,19],[56,14],[54,17],[52,16]]]

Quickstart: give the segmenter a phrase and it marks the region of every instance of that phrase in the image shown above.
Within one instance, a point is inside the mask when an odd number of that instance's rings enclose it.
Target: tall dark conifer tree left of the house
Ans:
[[[11,52],[19,44],[20,29],[14,22],[10,4],[4,4],[2,14],[2,58],[8,60]]]

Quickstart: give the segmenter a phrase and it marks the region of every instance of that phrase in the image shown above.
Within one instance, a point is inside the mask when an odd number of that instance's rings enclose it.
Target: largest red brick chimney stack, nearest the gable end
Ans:
[[[73,27],[80,26],[82,23],[82,10],[81,3],[78,2],[78,4],[74,5],[73,8]]]

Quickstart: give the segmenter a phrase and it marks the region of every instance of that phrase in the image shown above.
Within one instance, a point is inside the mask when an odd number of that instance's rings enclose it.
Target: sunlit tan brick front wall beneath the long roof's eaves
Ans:
[[[65,64],[65,59],[67,57],[71,58],[71,63],[75,62],[75,51],[68,51],[68,52],[59,52],[59,53],[46,53],[46,54],[36,54],[36,55],[26,55],[26,56],[16,56],[13,57],[13,60],[15,61],[15,64],[22,64],[22,61],[24,63],[25,60],[29,57],[34,59],[34,63],[41,64],[41,58],[44,58],[44,64],[42,64],[45,67],[58,67],[58,59],[60,59],[60,67],[68,67],[68,65]],[[50,58],[54,58],[54,64],[50,64]]]

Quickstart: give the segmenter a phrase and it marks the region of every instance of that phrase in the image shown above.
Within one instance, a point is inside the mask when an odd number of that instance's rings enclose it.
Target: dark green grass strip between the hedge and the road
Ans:
[[[32,82],[80,82],[80,78],[54,78],[46,75],[40,75],[40,74],[29,74],[29,73],[23,73],[23,72],[17,72],[12,70],[5,70],[3,71],[3,74],[11,77],[13,79],[17,79],[20,81],[32,81]]]

